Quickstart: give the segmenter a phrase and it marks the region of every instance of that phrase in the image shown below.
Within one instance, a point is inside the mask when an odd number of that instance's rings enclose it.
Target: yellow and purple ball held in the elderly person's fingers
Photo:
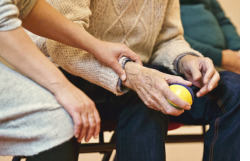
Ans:
[[[183,101],[186,101],[190,105],[193,104],[194,100],[194,92],[190,87],[187,87],[182,84],[171,84],[169,86],[170,90],[173,91],[177,96],[179,96]],[[182,110],[182,108],[178,107],[174,103],[172,103],[170,100],[168,102],[175,108]]]

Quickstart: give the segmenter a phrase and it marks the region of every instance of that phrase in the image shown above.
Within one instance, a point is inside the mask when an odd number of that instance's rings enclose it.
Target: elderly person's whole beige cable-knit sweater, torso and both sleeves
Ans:
[[[144,63],[174,71],[181,54],[193,53],[183,38],[178,0],[47,0],[96,38],[125,43]],[[49,26],[49,25],[48,25]],[[118,75],[86,51],[34,37],[36,44],[69,73],[117,92]]]

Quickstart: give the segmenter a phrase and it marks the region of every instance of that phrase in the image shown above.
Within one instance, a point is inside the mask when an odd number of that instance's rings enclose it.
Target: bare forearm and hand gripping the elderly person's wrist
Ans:
[[[58,4],[61,5],[62,3],[58,2]],[[65,4],[65,6],[69,8],[71,5]],[[69,10],[67,9],[67,11]],[[93,54],[103,65],[116,71],[123,80],[126,79],[126,75],[118,60],[122,56],[127,56],[136,62],[140,62],[139,57],[125,45],[108,43],[94,38],[85,29],[59,14],[44,0],[38,0],[31,13],[25,18],[23,26],[37,35],[86,50],[88,53]]]

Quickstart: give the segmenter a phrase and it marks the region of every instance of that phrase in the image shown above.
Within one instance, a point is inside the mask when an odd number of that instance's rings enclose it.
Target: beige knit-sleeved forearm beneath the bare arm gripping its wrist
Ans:
[[[46,47],[52,61],[67,72],[99,85],[116,95],[122,94],[117,91],[119,76],[111,68],[102,65],[93,55],[48,39]]]

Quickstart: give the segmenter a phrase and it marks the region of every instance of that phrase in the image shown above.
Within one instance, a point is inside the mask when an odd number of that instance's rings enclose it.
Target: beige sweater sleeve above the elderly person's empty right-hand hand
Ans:
[[[163,65],[176,73],[174,61],[182,54],[202,56],[198,51],[193,50],[183,37],[179,1],[169,0],[151,62],[152,64]]]

